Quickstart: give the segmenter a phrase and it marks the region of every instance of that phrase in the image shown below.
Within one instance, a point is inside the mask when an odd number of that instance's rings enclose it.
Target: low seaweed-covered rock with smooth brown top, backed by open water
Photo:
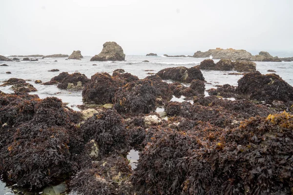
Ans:
[[[157,75],[162,79],[171,79],[181,82],[191,82],[194,79],[205,80],[202,72],[197,67],[186,68],[180,66],[165,68],[160,70]]]

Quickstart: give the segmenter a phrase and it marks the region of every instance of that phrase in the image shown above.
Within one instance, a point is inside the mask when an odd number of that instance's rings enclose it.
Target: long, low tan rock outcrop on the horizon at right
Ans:
[[[251,53],[241,49],[209,49],[207,52],[197,51],[192,56],[193,58],[209,58],[212,57],[213,59],[231,59],[231,60],[239,60],[239,59],[251,59]]]

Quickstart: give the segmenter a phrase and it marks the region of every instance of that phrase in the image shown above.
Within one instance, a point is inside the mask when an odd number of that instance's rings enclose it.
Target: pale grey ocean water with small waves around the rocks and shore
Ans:
[[[126,72],[137,76],[138,78],[145,78],[147,73],[157,73],[158,71],[168,68],[185,66],[192,67],[200,64],[203,58],[171,58],[163,56],[126,56],[126,61],[90,61],[91,56],[85,56],[81,60],[65,60],[66,58],[51,58],[41,59],[39,61],[0,61],[0,64],[7,64],[8,66],[0,66],[0,84],[9,78],[28,79],[28,83],[34,85],[38,90],[30,94],[37,94],[40,98],[57,97],[61,98],[63,102],[69,103],[69,106],[74,110],[79,110],[75,105],[82,104],[81,91],[68,91],[58,89],[56,85],[41,85],[35,84],[37,79],[43,82],[49,81],[51,78],[59,75],[62,72],[69,74],[80,72],[85,74],[88,78],[97,72],[107,72],[112,74],[115,69],[124,69]],[[55,61],[57,60],[57,61]],[[149,62],[142,62],[148,60]],[[219,59],[214,59],[215,62]],[[97,64],[93,66],[93,64]],[[48,72],[51,69],[59,69],[59,72]],[[267,70],[275,70],[277,75],[283,78],[286,82],[293,86],[293,62],[256,62],[256,69],[262,74],[270,74]],[[147,70],[147,71],[146,71]],[[12,74],[5,74],[10,71]],[[202,73],[207,81],[206,89],[216,88],[214,85],[230,84],[237,86],[237,80],[242,75],[228,75],[234,71],[205,71]],[[168,81],[171,82],[171,81]],[[11,86],[0,86],[0,90],[5,93],[13,93],[10,90]],[[0,181],[0,195],[13,194],[11,190],[4,187],[5,184]]]

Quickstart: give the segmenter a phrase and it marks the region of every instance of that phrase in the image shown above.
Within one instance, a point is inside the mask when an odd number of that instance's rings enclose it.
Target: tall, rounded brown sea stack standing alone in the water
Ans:
[[[99,55],[90,59],[91,61],[124,61],[125,54],[116,42],[105,42],[103,50]]]

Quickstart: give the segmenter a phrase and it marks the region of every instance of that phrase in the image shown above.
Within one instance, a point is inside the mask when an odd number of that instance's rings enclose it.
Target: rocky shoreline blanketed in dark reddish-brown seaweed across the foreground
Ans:
[[[238,86],[217,86],[205,97],[201,70],[237,67],[249,72]],[[292,190],[293,87],[260,74],[254,62],[206,59],[144,79],[123,69],[91,78],[62,72],[42,84],[82,91],[82,111],[29,95],[33,86],[8,79],[3,85],[15,92],[0,92],[0,175],[7,184],[41,192],[67,180],[69,191],[88,195]],[[134,170],[130,150],[140,151]]]

